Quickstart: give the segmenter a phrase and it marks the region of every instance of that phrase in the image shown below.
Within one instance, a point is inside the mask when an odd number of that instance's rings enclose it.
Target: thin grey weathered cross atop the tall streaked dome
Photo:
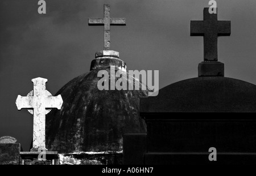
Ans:
[[[110,25],[125,25],[125,18],[110,18],[110,5],[104,5],[104,18],[89,18],[89,25],[104,25],[104,50],[110,50]]]

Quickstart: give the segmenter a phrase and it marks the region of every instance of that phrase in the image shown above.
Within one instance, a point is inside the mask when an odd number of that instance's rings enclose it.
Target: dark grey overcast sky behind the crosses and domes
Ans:
[[[54,95],[69,80],[89,71],[103,49],[103,27],[88,18],[126,18],[112,26],[111,49],[127,70],[159,70],[159,87],[197,77],[203,61],[203,37],[190,36],[190,20],[203,20],[208,0],[51,0],[38,14],[36,0],[0,1],[0,136],[18,139],[28,151],[32,115],[15,100],[33,89],[32,78],[47,78]],[[225,76],[256,84],[256,1],[217,1],[218,20],[231,20],[230,37],[218,38],[218,59]]]

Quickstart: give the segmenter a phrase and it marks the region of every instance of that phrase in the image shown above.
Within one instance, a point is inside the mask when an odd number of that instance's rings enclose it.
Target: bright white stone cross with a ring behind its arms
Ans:
[[[33,148],[31,152],[38,152],[38,149],[46,149],[46,108],[60,109],[63,100],[60,95],[53,97],[46,90],[47,79],[35,78],[32,79],[34,90],[29,96],[22,97],[18,95],[16,106],[18,110],[22,108],[33,109],[34,126],[33,126]]]

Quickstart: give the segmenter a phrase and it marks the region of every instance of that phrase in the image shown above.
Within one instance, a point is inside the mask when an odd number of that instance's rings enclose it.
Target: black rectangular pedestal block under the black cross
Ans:
[[[198,65],[198,76],[224,76],[224,63],[201,62]]]

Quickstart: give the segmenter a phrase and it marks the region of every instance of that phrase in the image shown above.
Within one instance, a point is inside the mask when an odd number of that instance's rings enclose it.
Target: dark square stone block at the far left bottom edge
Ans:
[[[18,165],[20,144],[0,144],[0,165]]]

